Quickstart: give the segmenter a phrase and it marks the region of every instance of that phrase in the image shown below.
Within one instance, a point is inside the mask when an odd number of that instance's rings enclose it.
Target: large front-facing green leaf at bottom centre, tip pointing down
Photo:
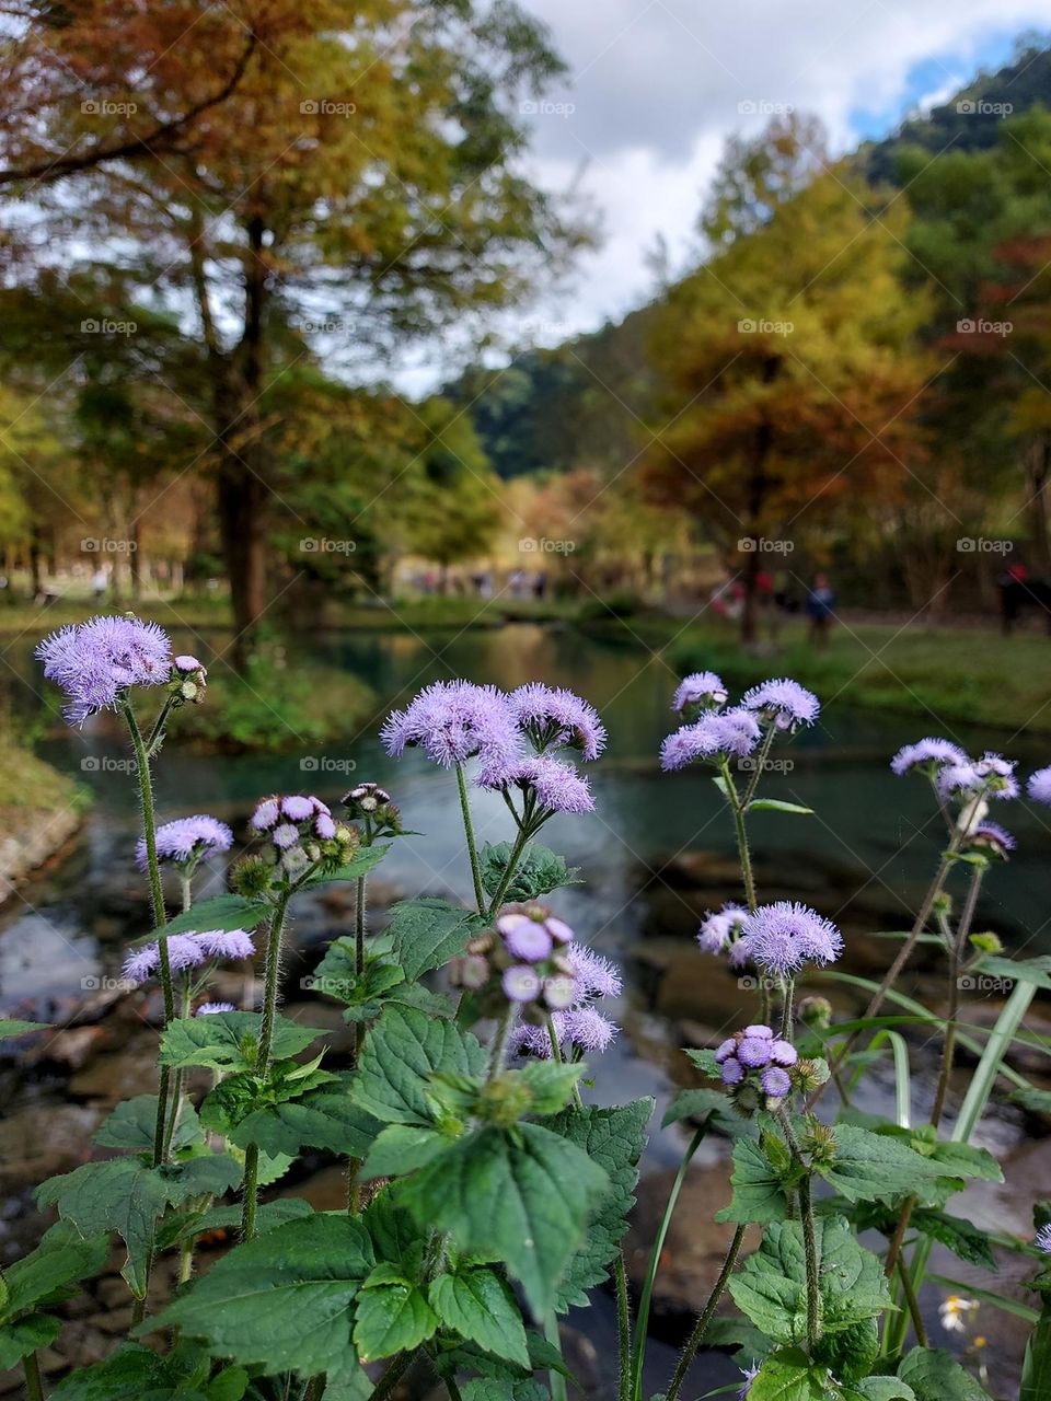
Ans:
[[[475,1129],[409,1177],[405,1202],[422,1226],[488,1251],[521,1282],[537,1314],[555,1304],[589,1213],[610,1187],[575,1143],[540,1124]]]

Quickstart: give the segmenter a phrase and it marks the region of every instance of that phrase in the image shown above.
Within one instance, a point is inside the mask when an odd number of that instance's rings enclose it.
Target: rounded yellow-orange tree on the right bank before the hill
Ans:
[[[656,319],[668,391],[643,468],[654,500],[694,511],[727,558],[737,549],[746,642],[761,570],[908,479],[930,371],[912,346],[923,297],[900,287],[904,207],[881,212],[842,167],[814,174],[806,126],[768,139],[776,160],[731,146],[740,168],[705,219],[720,251]]]

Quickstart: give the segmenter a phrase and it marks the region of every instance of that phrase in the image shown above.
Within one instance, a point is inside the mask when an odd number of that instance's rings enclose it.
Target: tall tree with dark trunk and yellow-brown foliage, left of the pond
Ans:
[[[559,64],[516,6],[245,0],[240,15],[266,42],[202,139],[98,167],[81,199],[133,282],[195,307],[244,656],[268,600],[268,387],[311,353],[360,367],[391,335],[504,305],[580,234],[518,170],[514,98]]]

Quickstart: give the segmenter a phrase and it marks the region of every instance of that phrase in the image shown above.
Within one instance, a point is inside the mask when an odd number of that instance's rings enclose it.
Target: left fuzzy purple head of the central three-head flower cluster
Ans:
[[[388,715],[380,740],[395,759],[419,745],[443,769],[475,754],[483,765],[507,766],[521,750],[517,717],[503,691],[469,681],[426,686],[405,710]]]

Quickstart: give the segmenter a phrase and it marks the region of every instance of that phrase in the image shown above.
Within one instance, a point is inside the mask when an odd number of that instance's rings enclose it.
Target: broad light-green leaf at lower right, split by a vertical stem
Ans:
[[[880,1261],[863,1250],[841,1216],[814,1223],[821,1261],[821,1330],[831,1334],[877,1318],[891,1306]],[[797,1346],[807,1334],[803,1227],[775,1222],[755,1254],[730,1279],[734,1303],[779,1345]]]

